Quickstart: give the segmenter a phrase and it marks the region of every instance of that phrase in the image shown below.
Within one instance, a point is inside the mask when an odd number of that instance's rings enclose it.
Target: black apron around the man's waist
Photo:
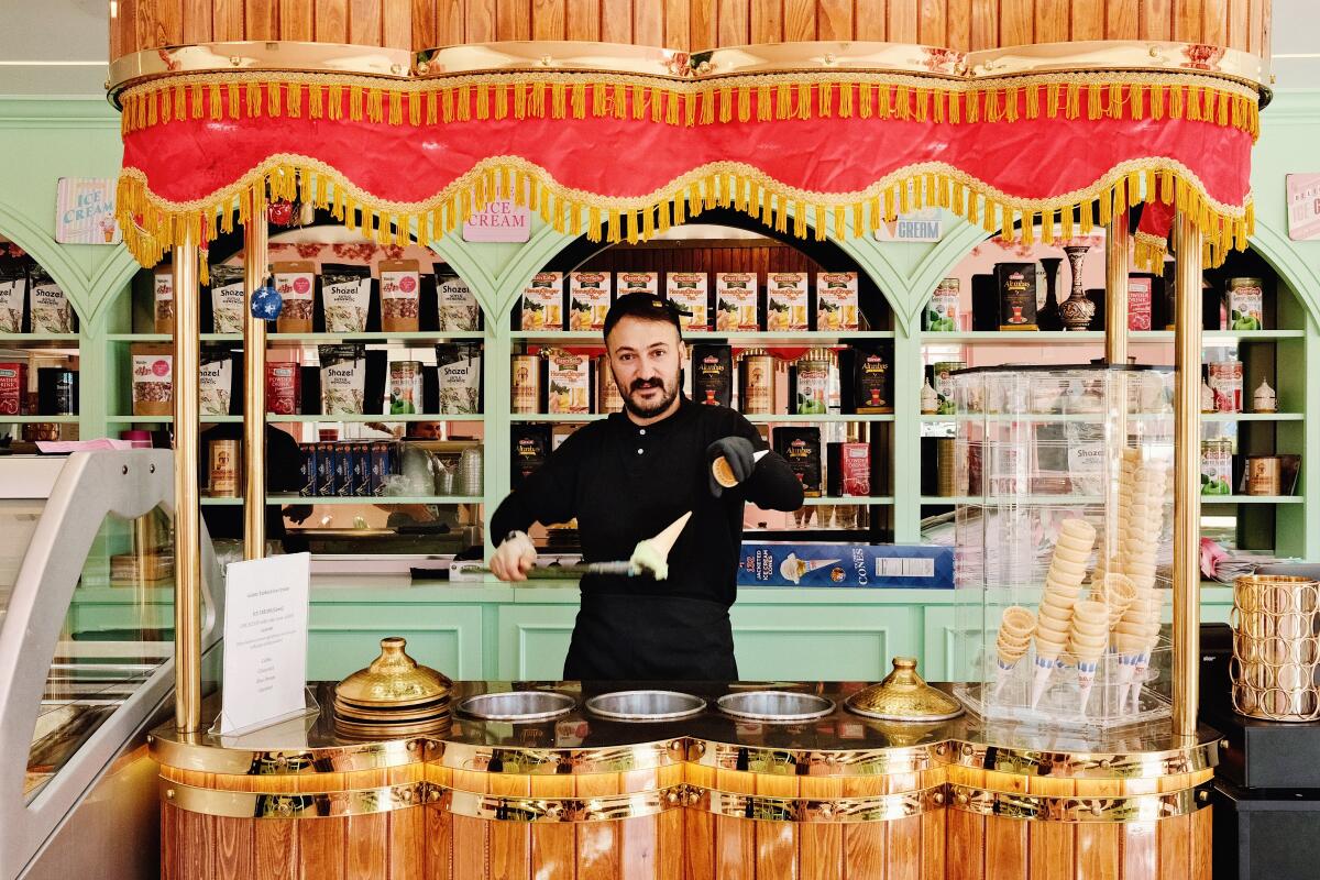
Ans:
[[[583,595],[564,678],[738,681],[729,610],[704,599]]]

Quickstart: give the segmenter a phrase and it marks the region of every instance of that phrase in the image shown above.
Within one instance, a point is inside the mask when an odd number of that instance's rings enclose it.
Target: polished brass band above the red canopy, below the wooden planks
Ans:
[[[136,51],[110,63],[111,100],[145,79],[197,73],[301,71],[384,80],[541,71],[624,74],[675,82],[748,74],[888,73],[977,82],[1027,74],[1142,71],[1233,79],[1258,90],[1269,62],[1238,49],[1184,42],[1105,40],[1055,42],[972,53],[891,42],[784,42],[686,53],[656,46],[578,41],[519,41],[401,49],[281,40],[203,42]]]

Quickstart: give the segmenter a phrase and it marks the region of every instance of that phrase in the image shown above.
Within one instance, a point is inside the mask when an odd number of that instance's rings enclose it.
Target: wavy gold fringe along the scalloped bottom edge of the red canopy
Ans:
[[[1142,187],[1142,179],[1159,179],[1162,185]],[[347,228],[360,230],[364,236],[385,244],[409,239],[426,244],[450,235],[495,198],[512,198],[537,211],[556,231],[573,235],[582,234],[586,214],[585,232],[591,241],[645,240],[657,230],[668,230],[717,206],[759,216],[777,232],[789,231],[791,215],[792,232],[797,237],[810,234],[822,239],[832,228],[836,237],[843,239],[870,235],[900,211],[939,206],[969,223],[981,222],[987,232],[1001,232],[1006,240],[1031,243],[1040,223],[1041,240],[1051,243],[1073,237],[1074,212],[1081,218],[1080,234],[1086,235],[1097,218],[1107,223],[1130,204],[1151,202],[1172,190],[1177,210],[1188,211],[1197,220],[1206,241],[1209,267],[1222,263],[1228,251],[1243,249],[1255,224],[1250,198],[1243,208],[1214,202],[1204,195],[1204,186],[1185,166],[1167,160],[1123,162],[1085,190],[1041,201],[1010,197],[942,164],[902,169],[863,191],[824,194],[785,186],[739,162],[706,165],[655,193],[611,199],[568,189],[527,160],[502,156],[478,164],[425,202],[399,203],[376,198],[317,160],[275,156],[238,182],[187,203],[161,199],[149,190],[139,169],[125,168],[119,177],[116,202],[124,243],[144,267],[156,265],[182,240],[189,227],[205,245],[219,232],[232,231],[235,211],[240,226],[248,222],[244,206],[257,186],[265,187],[272,199],[310,202],[331,212]],[[1163,260],[1155,259],[1154,241],[1143,247],[1139,265],[1158,265]]]

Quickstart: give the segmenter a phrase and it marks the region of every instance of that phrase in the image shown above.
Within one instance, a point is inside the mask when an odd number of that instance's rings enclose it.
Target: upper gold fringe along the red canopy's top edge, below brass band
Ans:
[[[203,90],[202,87],[206,86]],[[224,87],[224,91],[222,91]],[[876,88],[878,87],[878,88]],[[546,91],[550,100],[546,100]],[[873,98],[878,91],[878,102]],[[528,95],[531,92],[531,100]],[[931,80],[911,74],[760,74],[702,82],[630,75],[467,74],[411,82],[317,74],[181,74],[120,95],[124,135],[187,117],[350,119],[391,125],[471,119],[626,119],[713,125],[787,119],[915,119],[939,124],[1016,121],[1022,116],[1090,120],[1188,119],[1261,133],[1259,102],[1239,83],[1205,75],[1078,73],[994,80]],[[436,112],[437,103],[444,112]],[[329,106],[329,107],[327,107]],[[1085,107],[1085,111],[1082,111]]]

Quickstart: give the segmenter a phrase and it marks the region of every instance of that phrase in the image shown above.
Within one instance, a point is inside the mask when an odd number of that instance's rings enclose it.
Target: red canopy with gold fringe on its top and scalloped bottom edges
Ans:
[[[243,194],[331,208],[379,240],[421,243],[488,199],[557,230],[636,240],[705,206],[797,235],[866,235],[945,207],[1051,241],[1142,202],[1144,256],[1171,207],[1210,264],[1251,231],[1258,96],[1197,74],[1040,74],[969,82],[892,73],[684,80],[586,73],[432,79],[180,74],[132,86],[119,219],[144,265],[193,224],[205,245]],[[1162,228],[1163,227],[1163,228]],[[1142,256],[1139,253],[1139,256]]]

